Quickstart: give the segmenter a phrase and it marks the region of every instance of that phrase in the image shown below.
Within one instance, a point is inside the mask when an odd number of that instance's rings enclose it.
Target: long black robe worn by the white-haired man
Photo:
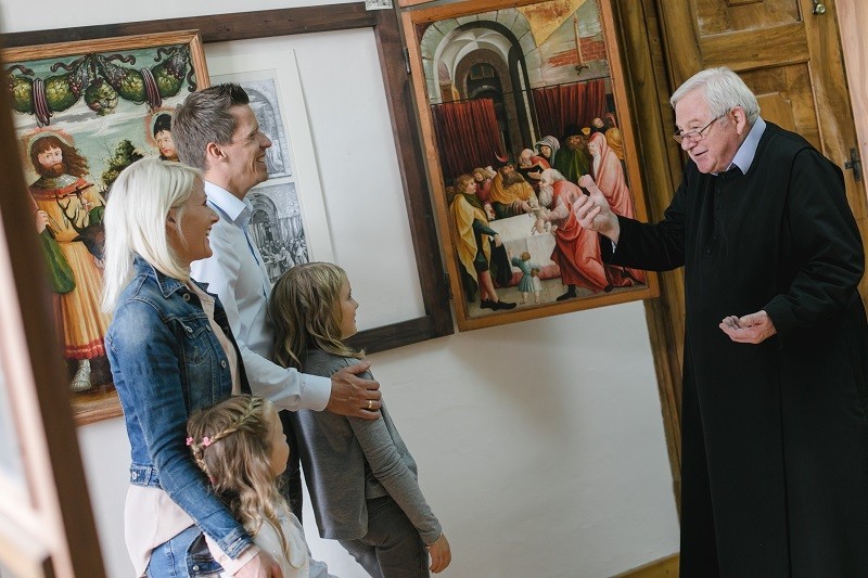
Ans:
[[[770,123],[748,174],[689,162],[612,261],[685,267],[681,576],[868,576],[864,255],[841,170]],[[738,344],[727,316],[777,335]]]

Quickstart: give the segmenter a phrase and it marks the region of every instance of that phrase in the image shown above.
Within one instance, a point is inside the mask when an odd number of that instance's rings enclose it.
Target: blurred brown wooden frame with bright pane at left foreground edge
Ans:
[[[0,91],[0,371],[21,481],[0,475],[0,561],[22,576],[105,576],[9,93]],[[18,234],[20,231],[34,234]],[[0,384],[0,387],[3,387]],[[0,472],[3,474],[4,472]],[[8,556],[8,557],[7,557]]]

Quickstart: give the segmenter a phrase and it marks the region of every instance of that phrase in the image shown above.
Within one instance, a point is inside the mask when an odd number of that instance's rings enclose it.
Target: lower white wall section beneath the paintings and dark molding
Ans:
[[[620,305],[371,356],[452,544],[445,576],[604,577],[678,550],[643,319]],[[129,576],[123,424],[80,440],[106,565]],[[316,557],[365,576],[305,519]]]

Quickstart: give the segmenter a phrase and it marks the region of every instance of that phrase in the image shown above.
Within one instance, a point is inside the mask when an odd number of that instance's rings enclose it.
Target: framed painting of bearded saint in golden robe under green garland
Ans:
[[[102,214],[118,174],[143,156],[175,160],[170,120],[208,86],[196,30],[3,50],[30,229],[52,288],[78,423],[120,414],[100,309]]]

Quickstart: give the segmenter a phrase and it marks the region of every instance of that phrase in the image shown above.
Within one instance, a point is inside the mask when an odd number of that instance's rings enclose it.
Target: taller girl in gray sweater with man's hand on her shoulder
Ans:
[[[357,363],[365,354],[344,344],[356,333],[357,308],[340,267],[293,267],[271,291],[276,360],[327,377]],[[449,565],[449,542],[419,489],[416,462],[385,403],[381,412],[380,420],[296,412],[317,526],[373,577],[429,576],[427,555],[431,571]]]

